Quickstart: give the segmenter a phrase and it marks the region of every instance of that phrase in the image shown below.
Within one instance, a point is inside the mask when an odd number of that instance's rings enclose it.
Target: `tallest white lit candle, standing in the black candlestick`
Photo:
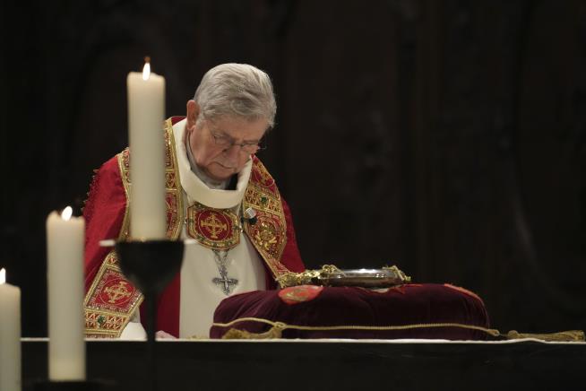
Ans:
[[[165,211],[165,78],[144,65],[142,74],[131,72],[128,89],[130,143],[130,236],[164,239]]]

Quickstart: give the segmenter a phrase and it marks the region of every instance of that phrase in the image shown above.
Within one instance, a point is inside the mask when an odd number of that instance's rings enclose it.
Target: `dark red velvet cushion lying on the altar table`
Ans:
[[[287,328],[283,338],[485,340],[489,337],[482,330],[466,328],[489,326],[482,300],[470,291],[449,284],[407,284],[385,292],[307,285],[281,291],[251,291],[222,300],[214,313],[214,323],[227,324],[243,317],[294,326],[407,326],[385,330]],[[444,323],[456,325],[438,325]],[[210,336],[221,338],[230,328],[260,334],[271,325],[247,320],[232,326],[212,326]]]

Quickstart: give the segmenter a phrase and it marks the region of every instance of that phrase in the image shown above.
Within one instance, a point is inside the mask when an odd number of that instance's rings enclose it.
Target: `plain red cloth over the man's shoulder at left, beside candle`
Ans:
[[[94,176],[89,198],[83,208],[85,228],[85,291],[98,273],[111,248],[101,247],[103,239],[118,239],[125,218],[125,188],[116,156],[104,163]]]

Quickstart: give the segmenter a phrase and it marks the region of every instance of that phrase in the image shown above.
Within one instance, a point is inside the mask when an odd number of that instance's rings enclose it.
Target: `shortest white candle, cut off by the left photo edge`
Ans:
[[[0,390],[20,391],[21,290],[6,283],[0,270]]]

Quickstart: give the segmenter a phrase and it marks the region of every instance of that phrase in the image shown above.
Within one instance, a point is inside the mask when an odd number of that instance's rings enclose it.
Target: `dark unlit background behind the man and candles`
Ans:
[[[271,74],[260,157],[306,265],[477,292],[501,331],[586,329],[586,3],[0,3],[2,255],[46,335],[45,219],[127,143],[142,57],[184,115],[224,62]]]

